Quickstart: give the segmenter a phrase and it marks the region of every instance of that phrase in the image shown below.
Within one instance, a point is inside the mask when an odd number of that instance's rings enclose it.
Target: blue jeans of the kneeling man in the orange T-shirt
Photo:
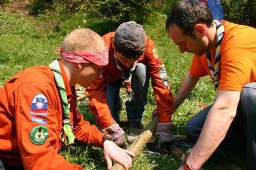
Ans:
[[[199,138],[210,108],[212,105],[187,122],[187,136],[191,140]],[[244,85],[236,116],[218,148],[246,155],[247,169],[256,168],[256,83]]]

